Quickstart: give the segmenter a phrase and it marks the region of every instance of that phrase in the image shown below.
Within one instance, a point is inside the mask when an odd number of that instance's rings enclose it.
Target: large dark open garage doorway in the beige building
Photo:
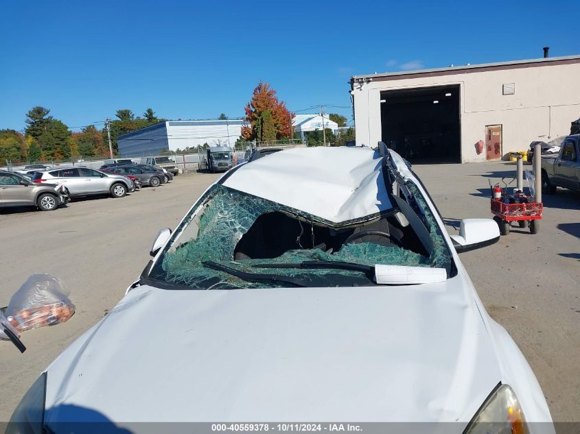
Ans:
[[[381,92],[381,125],[410,162],[461,162],[459,85]]]

